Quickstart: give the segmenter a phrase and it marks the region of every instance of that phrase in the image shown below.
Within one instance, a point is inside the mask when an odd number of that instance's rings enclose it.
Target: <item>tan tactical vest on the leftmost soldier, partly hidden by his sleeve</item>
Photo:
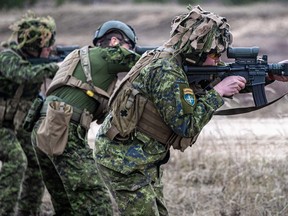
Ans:
[[[12,52],[19,58],[22,57],[12,49],[5,49],[2,52]],[[1,74],[1,73],[0,73]],[[0,127],[6,123],[9,127],[13,127],[17,131],[22,125],[23,120],[32,104],[31,101],[22,99],[24,84],[20,84],[12,98],[0,96]]]

